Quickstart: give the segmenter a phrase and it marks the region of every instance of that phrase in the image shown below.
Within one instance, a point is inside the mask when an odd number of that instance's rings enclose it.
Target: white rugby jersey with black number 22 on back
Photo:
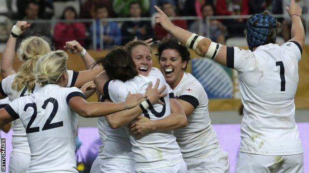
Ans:
[[[68,106],[72,97],[84,95],[76,87],[48,84],[37,86],[33,94],[20,97],[5,107],[26,129],[31,151],[26,173],[78,173],[74,140],[78,117]]]

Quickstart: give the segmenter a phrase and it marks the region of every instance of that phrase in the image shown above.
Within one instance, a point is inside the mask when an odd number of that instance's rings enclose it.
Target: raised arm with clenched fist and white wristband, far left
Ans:
[[[17,36],[21,35],[28,27],[30,27],[30,24],[28,24],[26,21],[17,21],[16,25],[13,26],[11,30],[12,34],[8,37],[1,58],[0,69],[2,78],[16,73],[13,70],[16,39]]]

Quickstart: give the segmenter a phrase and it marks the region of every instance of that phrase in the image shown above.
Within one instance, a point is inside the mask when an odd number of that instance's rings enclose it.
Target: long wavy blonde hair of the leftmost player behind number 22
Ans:
[[[14,77],[12,88],[20,91],[27,87],[30,92],[35,86],[34,70],[38,59],[51,51],[50,41],[46,37],[29,36],[24,39],[17,50],[19,60],[25,61]]]

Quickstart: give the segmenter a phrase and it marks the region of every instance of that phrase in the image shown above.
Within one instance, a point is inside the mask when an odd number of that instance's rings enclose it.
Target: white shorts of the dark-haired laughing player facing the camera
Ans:
[[[203,158],[184,159],[188,173],[229,173],[230,164],[227,152],[222,148],[214,149]]]

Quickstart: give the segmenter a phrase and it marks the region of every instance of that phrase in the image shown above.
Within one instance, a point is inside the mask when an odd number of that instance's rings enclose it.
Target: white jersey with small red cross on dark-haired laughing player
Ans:
[[[174,88],[174,94],[178,100],[186,101],[195,108],[188,117],[188,126],[174,130],[183,158],[203,157],[220,147],[210,124],[208,97],[202,84],[192,74],[185,72]]]

